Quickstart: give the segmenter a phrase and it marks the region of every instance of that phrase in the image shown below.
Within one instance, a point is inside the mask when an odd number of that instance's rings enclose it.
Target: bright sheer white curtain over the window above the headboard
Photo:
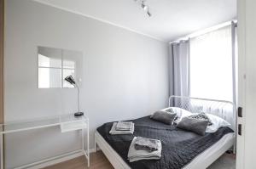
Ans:
[[[231,25],[190,39],[190,96],[233,101]]]

